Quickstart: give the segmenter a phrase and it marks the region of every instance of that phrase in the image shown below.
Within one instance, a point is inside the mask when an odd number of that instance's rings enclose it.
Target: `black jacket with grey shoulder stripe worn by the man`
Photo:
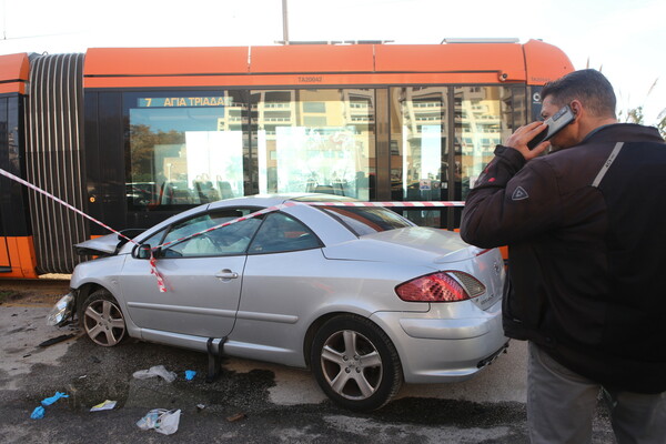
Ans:
[[[511,148],[495,154],[461,234],[508,245],[506,335],[606,386],[666,391],[666,143],[656,129],[603,127],[527,163]]]

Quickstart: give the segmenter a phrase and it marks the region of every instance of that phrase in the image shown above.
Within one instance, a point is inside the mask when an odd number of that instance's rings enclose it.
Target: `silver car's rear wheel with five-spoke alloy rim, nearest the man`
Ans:
[[[395,346],[376,324],[356,315],[326,321],[312,343],[311,369],[324,393],[356,412],[384,406],[403,382]]]

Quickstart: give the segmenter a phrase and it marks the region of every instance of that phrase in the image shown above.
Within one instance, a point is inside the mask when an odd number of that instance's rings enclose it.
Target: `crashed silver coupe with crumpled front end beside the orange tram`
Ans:
[[[310,367],[354,411],[383,406],[403,382],[472,377],[507,345],[500,252],[354,202],[230,199],[133,242],[87,241],[78,246],[105,256],[77,266],[51,322],[78,317],[103,346],[132,336],[206,352],[210,372],[220,353]]]

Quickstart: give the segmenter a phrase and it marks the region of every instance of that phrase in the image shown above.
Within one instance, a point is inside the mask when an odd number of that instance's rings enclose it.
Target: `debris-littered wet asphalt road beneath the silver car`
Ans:
[[[3,443],[528,442],[526,347],[521,342],[512,342],[507,354],[468,382],[404,385],[381,411],[360,414],[329,402],[306,371],[226,359],[221,377],[209,384],[204,354],[138,341],[97,346],[78,330],[46,325],[53,299],[0,303]],[[39,346],[63,334],[73,336]],[[153,365],[175,372],[176,380],[132,376]],[[185,370],[198,374],[186,381]],[[43,418],[30,418],[40,401],[56,392],[69,397],[47,406]],[[117,401],[115,408],[90,412],[105,400]],[[137,426],[153,408],[181,410],[175,434]],[[597,410],[594,442],[615,442],[603,406]]]

